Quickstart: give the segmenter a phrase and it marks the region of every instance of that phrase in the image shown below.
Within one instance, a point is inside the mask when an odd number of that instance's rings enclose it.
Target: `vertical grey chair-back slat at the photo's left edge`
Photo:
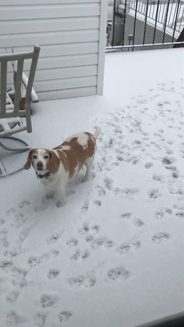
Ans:
[[[1,88],[0,88],[0,112],[6,112],[6,88],[7,88],[7,61],[1,61]]]

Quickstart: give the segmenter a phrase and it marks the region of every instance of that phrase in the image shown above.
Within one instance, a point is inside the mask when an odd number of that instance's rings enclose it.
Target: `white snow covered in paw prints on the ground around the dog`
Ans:
[[[32,168],[1,180],[3,327],[132,327],[183,310],[183,55],[107,54],[103,96],[33,106],[19,136],[32,147],[102,131],[63,208]]]

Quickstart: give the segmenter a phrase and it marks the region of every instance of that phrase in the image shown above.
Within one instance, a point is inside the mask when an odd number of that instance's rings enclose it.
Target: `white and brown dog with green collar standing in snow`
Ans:
[[[60,196],[58,207],[65,204],[66,183],[77,175],[83,164],[86,166],[83,181],[89,181],[89,173],[97,149],[96,140],[100,132],[99,127],[93,135],[88,132],[74,134],[52,150],[29,151],[24,169],[29,169],[32,164],[37,178],[48,190],[47,198],[52,198],[54,192],[58,191]]]

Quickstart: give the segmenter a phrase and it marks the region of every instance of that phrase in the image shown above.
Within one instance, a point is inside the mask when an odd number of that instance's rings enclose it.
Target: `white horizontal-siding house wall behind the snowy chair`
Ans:
[[[1,0],[0,53],[41,47],[39,100],[102,94],[107,0]],[[30,60],[24,62],[28,75]],[[8,83],[12,84],[8,65]],[[9,84],[8,84],[9,86]]]

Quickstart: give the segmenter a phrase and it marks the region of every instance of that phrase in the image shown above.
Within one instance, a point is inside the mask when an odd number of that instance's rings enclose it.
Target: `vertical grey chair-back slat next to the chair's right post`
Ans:
[[[16,82],[15,82],[14,112],[19,111],[23,66],[24,66],[24,59],[18,59]]]

